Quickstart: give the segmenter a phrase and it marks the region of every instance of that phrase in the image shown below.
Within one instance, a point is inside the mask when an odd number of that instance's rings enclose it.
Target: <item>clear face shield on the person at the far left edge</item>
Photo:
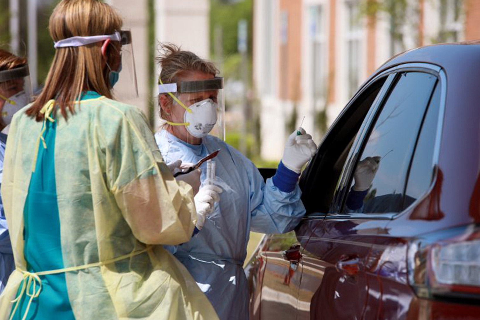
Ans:
[[[28,65],[0,71],[0,122],[10,124],[12,117],[32,101],[32,86]]]

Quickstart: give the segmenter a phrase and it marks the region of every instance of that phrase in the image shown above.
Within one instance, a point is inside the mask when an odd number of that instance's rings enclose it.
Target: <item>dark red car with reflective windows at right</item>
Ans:
[[[300,178],[305,218],[245,269],[251,319],[480,319],[479,77],[480,43],[444,44],[360,87]]]

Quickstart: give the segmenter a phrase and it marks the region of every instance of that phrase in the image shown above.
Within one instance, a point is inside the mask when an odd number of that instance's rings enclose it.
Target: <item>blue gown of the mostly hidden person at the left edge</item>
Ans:
[[[0,132],[0,185],[6,144],[7,135]],[[0,294],[13,269],[15,269],[15,261],[13,260],[12,243],[10,242],[7,220],[5,219],[5,212],[3,211],[3,202],[0,197]]]

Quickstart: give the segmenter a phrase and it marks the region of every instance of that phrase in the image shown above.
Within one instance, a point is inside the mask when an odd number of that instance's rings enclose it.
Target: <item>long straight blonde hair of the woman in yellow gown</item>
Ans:
[[[120,31],[121,26],[120,15],[100,0],[62,0],[48,24],[55,42],[72,36],[111,35]],[[42,120],[41,108],[48,100],[55,99],[61,115],[67,119],[67,108],[74,113],[74,102],[86,90],[111,98],[108,69],[102,68],[101,44],[56,49],[45,86],[26,111],[27,115]],[[107,55],[108,64],[112,62],[110,59]]]

